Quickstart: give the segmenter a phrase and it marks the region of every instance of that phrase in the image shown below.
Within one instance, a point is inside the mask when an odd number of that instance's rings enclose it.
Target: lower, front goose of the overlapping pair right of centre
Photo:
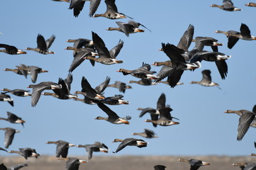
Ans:
[[[178,125],[178,122],[174,122],[172,119],[173,117],[171,116],[171,108],[161,108],[159,109],[159,119],[157,120],[150,120],[150,119],[146,119],[145,122],[151,122],[151,123],[155,123],[157,125],[161,125],[161,126],[170,126],[170,125]]]

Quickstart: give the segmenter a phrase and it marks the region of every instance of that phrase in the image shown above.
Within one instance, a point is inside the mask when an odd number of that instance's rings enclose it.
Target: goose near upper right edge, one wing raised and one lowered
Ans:
[[[248,28],[248,26],[245,25],[245,23],[241,23],[240,32],[235,30],[216,30],[215,33],[223,33],[228,37],[228,48],[230,49],[234,47],[239,39],[256,40],[256,37],[250,34],[250,29]]]

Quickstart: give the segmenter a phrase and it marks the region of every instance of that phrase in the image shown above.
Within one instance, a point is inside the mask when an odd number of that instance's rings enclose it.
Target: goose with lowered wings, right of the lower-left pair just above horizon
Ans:
[[[77,147],[85,147],[87,152],[88,159],[92,159],[93,152],[105,152],[108,153],[110,149],[108,149],[107,145],[102,142],[95,142],[92,145],[78,145]]]

